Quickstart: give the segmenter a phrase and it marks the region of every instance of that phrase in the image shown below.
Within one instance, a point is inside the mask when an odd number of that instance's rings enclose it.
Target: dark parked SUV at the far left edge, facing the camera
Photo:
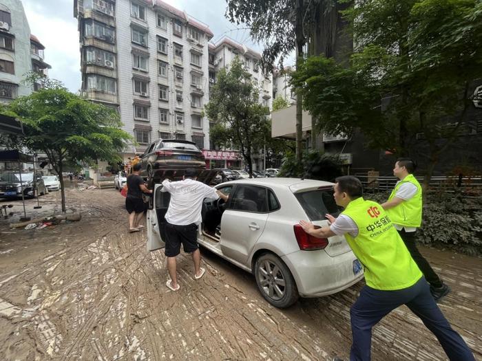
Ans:
[[[21,178],[21,181],[20,181]],[[42,176],[36,175],[36,190],[39,195],[48,193]],[[6,171],[0,173],[0,197],[35,197],[34,173],[16,173]]]

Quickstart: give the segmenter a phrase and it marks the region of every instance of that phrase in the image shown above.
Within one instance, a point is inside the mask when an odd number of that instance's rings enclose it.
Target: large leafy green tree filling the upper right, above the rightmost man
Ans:
[[[359,127],[373,145],[397,155],[410,155],[415,134],[423,133],[428,184],[465,121],[470,83],[482,75],[482,4],[365,0],[344,14],[357,44],[349,67],[311,58],[293,84],[328,132]]]

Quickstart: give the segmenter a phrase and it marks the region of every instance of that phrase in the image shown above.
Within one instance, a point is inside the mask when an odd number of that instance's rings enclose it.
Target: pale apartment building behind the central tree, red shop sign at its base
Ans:
[[[216,83],[216,75],[220,69],[229,68],[236,57],[240,58],[253,77],[260,92],[260,104],[269,107],[270,110],[273,109],[273,74],[263,74],[258,65],[261,54],[229,37],[222,38],[216,44],[209,44],[209,85],[212,86]],[[212,142],[210,149],[215,149]],[[218,149],[217,151],[207,152],[205,157],[211,167],[240,168],[242,165],[242,157],[237,151],[221,151]],[[253,161],[253,169],[260,169],[262,164],[260,155],[254,155]]]

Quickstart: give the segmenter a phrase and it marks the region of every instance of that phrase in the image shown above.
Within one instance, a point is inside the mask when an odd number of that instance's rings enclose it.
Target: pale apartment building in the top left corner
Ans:
[[[50,65],[43,59],[45,47],[30,34],[20,0],[0,0],[0,102],[8,103],[27,96],[33,88],[22,83],[25,74],[44,74]]]

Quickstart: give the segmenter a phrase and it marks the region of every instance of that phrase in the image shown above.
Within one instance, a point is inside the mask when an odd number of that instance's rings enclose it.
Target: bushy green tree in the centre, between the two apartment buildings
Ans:
[[[221,69],[219,72],[218,81],[211,88],[209,103],[205,105],[205,113],[209,120],[216,122],[210,129],[211,139],[217,144],[240,149],[251,177],[251,155],[262,147],[267,136],[269,109],[260,105],[251,74],[244,69],[239,58],[235,58],[229,70]]]

